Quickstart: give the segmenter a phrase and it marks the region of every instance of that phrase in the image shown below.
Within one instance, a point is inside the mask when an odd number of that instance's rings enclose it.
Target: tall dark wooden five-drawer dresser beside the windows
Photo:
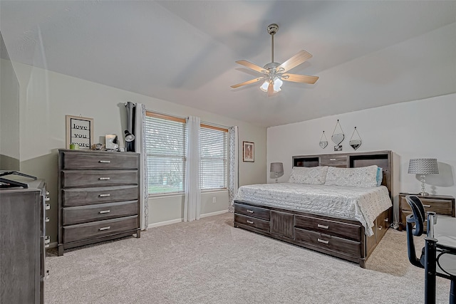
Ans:
[[[59,256],[90,243],[140,238],[139,164],[133,152],[59,150]]]

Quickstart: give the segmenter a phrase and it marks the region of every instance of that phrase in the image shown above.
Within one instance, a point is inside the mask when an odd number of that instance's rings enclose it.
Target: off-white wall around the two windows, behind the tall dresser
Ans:
[[[107,134],[123,140],[127,117],[124,103],[145,104],[147,110],[186,117],[195,115],[204,122],[239,127],[239,147],[242,141],[255,142],[255,162],[242,162],[239,152],[239,184],[266,182],[266,128],[247,122],[214,115],[195,108],[169,103],[125,90],[53,73],[41,68],[14,63],[20,84],[21,98],[21,171],[46,179],[51,192],[51,221],[46,228],[51,241],[57,236],[58,149],[66,145],[65,115],[81,115],[94,120],[95,142],[104,143]],[[212,197],[216,203],[212,203]],[[217,214],[229,206],[227,192],[202,195],[202,214]],[[149,224],[180,221],[183,217],[183,197],[149,199]]]

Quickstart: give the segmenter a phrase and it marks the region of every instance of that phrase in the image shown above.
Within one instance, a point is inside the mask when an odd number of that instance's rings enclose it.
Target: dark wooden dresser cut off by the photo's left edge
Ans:
[[[44,303],[46,184],[0,190],[0,303]]]

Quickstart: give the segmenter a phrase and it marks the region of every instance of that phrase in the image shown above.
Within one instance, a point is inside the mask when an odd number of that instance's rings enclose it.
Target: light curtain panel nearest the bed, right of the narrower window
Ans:
[[[238,147],[238,135],[237,126],[229,128],[229,185],[228,185],[228,196],[229,196],[229,212],[234,211],[234,196],[239,188],[239,147]]]

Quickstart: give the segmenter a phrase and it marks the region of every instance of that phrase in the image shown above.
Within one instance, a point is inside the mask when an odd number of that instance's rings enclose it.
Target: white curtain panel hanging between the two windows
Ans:
[[[201,190],[199,189],[199,117],[187,118],[187,164],[185,174],[184,221],[199,219]]]

